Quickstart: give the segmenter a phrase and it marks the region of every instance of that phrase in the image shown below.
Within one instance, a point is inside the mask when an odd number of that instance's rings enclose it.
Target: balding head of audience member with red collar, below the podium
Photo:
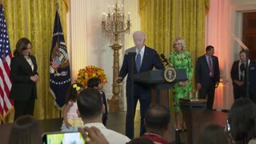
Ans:
[[[167,144],[164,137],[166,130],[170,126],[170,112],[162,105],[156,104],[146,110],[145,127],[146,133],[142,136],[155,143]]]

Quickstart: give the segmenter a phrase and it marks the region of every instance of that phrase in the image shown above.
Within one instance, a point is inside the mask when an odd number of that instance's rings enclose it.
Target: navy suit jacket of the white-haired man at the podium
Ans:
[[[126,88],[130,87],[130,62],[129,62],[129,58],[128,58],[128,52],[136,52],[136,47],[132,47],[128,50],[126,50],[126,54],[124,57],[124,60],[122,62],[122,68],[119,72],[119,76],[118,77],[122,77],[125,78],[126,74],[128,74],[127,77],[127,83],[126,83]],[[143,55],[143,59],[142,59],[142,65],[139,71],[137,71],[135,63],[134,63],[134,74],[138,74],[138,73],[142,73],[148,70],[153,70],[154,66],[157,69],[164,69],[164,67],[162,66],[162,63],[159,59],[158,53],[156,52],[156,50],[151,49],[150,47],[145,46],[145,51],[144,51],[144,55]],[[136,83],[135,83],[136,86]]]

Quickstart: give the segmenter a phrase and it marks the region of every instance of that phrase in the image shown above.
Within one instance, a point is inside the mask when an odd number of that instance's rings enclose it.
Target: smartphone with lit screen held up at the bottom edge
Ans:
[[[43,144],[84,144],[79,132],[52,132],[42,134]]]

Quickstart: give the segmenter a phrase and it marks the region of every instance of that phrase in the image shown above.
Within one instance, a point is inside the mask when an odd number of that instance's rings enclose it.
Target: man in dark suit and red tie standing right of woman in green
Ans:
[[[207,109],[214,105],[215,88],[219,83],[218,57],[214,56],[214,46],[206,46],[206,54],[198,58],[196,66],[196,82],[199,98],[206,98]]]

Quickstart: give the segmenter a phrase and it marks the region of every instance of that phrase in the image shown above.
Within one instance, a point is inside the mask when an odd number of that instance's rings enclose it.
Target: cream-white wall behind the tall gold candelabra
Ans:
[[[70,1],[68,14],[68,44],[71,59],[72,81],[77,78],[78,70],[85,66],[100,66],[105,70],[107,83],[104,91],[107,98],[112,97],[113,83],[113,50],[109,39],[102,34],[102,13],[108,11],[108,5],[113,6],[115,0],[74,0]],[[134,45],[132,33],[140,30],[140,18],[138,16],[138,0],[118,0],[123,4],[125,14],[130,12],[132,27],[130,33],[122,39],[122,50],[119,50],[119,62],[122,66],[124,50]],[[126,108],[125,82],[122,84],[120,103]]]

